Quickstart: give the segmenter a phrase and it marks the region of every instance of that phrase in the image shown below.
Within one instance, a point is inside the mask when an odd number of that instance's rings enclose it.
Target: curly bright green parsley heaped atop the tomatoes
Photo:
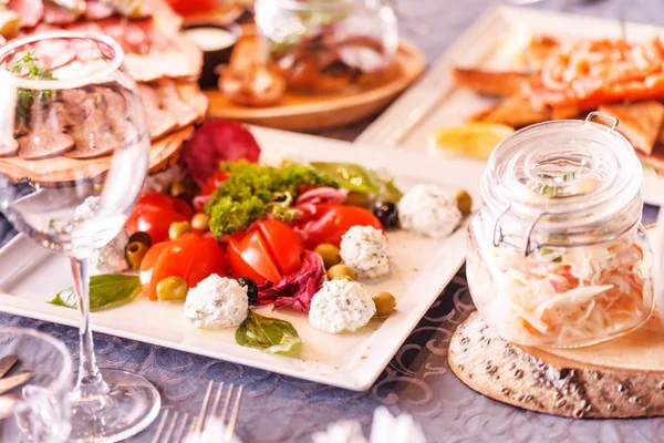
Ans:
[[[271,167],[239,161],[224,162],[220,169],[230,173],[230,178],[219,185],[205,206],[210,230],[217,237],[245,230],[270,213],[280,220],[292,219],[297,212],[290,205],[302,188],[338,187],[333,179],[303,165]]]

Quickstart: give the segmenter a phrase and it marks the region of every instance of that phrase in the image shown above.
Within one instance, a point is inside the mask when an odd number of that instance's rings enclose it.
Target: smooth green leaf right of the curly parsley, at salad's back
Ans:
[[[334,179],[339,186],[362,194],[372,194],[382,202],[397,203],[403,194],[393,178],[381,177],[374,171],[353,163],[313,162],[311,166]]]

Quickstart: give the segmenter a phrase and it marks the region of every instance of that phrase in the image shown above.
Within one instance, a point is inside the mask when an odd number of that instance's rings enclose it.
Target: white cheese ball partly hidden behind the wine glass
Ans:
[[[100,208],[100,197],[87,197],[76,207],[74,218],[76,220],[86,220],[94,216]],[[90,255],[90,266],[98,274],[117,274],[129,269],[125,258],[125,246],[129,243],[129,236],[123,228],[120,234],[106,246],[95,249]]]

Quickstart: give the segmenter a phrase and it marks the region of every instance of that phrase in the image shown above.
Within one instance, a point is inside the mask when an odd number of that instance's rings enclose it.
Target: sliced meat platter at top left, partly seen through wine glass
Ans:
[[[203,54],[179,33],[181,19],[167,4],[132,4],[11,1],[1,7],[3,19],[15,24],[2,29],[3,38],[9,40],[6,49],[12,48],[17,37],[35,40],[17,45],[2,63],[29,79],[80,78],[100,70],[103,49],[75,40],[38,41],[38,34],[64,30],[113,38],[125,52],[127,71],[138,82],[149,123],[149,168],[157,172],[177,159],[183,143],[206,115],[208,101],[196,83]],[[92,179],[108,169],[113,153],[122,146],[123,135],[117,133],[125,106],[122,93],[100,84],[85,94],[66,92],[54,99],[49,107],[52,143],[35,142],[32,128],[23,127],[20,113],[17,115],[15,143],[0,150],[0,172],[10,179],[28,179],[42,186]],[[32,100],[25,95],[23,102],[19,103],[21,112],[32,112]],[[85,112],[71,111],[79,107]],[[86,142],[75,131],[86,119],[95,121],[98,143]]]

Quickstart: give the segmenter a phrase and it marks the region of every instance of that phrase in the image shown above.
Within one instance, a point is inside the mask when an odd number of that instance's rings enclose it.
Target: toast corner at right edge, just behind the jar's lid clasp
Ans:
[[[599,111],[618,117],[618,131],[623,134],[634,148],[645,154],[653,152],[664,123],[664,104],[654,100],[633,103],[614,103],[600,105]]]

